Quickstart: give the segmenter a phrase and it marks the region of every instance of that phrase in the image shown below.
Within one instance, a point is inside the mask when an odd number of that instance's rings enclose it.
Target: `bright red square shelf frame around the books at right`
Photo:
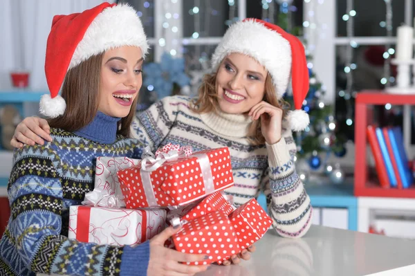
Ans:
[[[413,105],[415,95],[388,94],[385,91],[361,91],[356,97],[355,109],[355,180],[354,194],[356,196],[381,196],[396,198],[415,198],[415,187],[398,190],[396,188],[383,188],[376,181],[368,178],[367,167],[367,125],[371,123],[371,109],[373,105],[383,104]]]

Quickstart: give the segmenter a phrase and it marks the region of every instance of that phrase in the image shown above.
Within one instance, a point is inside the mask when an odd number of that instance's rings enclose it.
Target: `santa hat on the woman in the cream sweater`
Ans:
[[[291,129],[301,131],[308,126],[310,119],[302,110],[309,88],[308,68],[304,46],[297,37],[274,24],[249,18],[226,31],[212,56],[214,71],[230,53],[249,55],[264,66],[273,78],[278,98],[284,95],[291,76],[295,107],[289,113]]]

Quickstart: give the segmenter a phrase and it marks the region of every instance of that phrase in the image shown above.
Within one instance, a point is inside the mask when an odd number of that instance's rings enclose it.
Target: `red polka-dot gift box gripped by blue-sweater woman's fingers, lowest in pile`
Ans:
[[[230,256],[241,251],[237,236],[228,216],[221,210],[210,212],[183,225],[180,232],[173,235],[176,250],[208,255],[203,262],[187,262],[192,265],[221,264]]]

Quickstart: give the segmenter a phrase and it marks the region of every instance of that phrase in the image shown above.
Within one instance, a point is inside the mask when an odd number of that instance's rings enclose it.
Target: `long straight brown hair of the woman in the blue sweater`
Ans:
[[[62,116],[48,120],[50,127],[66,131],[77,131],[93,121],[100,102],[100,76],[104,53],[94,55],[66,73],[62,85],[62,98],[66,109]],[[118,122],[117,134],[129,136],[131,122],[136,112],[137,100],[134,99],[127,117]]]

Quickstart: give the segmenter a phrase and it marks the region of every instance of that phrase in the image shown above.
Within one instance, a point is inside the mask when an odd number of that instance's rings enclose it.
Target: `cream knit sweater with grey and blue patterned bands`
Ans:
[[[267,197],[273,228],[283,237],[302,237],[311,226],[312,208],[304,185],[295,172],[296,145],[283,122],[283,138],[274,145],[252,146],[246,138],[250,118],[226,113],[197,114],[190,98],[167,97],[138,114],[131,133],[151,149],[169,142],[191,145],[194,151],[230,148],[234,187],[227,192],[236,205]]]

